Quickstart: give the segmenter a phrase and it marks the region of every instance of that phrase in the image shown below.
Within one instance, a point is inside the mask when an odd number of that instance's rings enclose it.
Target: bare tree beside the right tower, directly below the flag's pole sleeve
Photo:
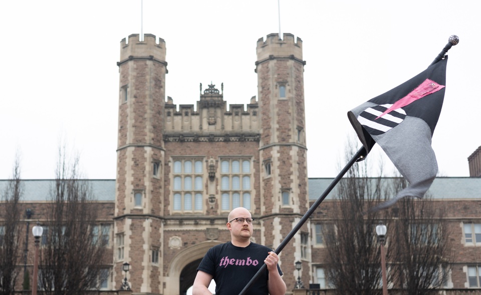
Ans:
[[[354,144],[347,145],[353,150]],[[353,156],[346,152],[346,159]],[[381,263],[375,226],[383,212],[368,212],[381,200],[381,177],[370,178],[357,162],[338,184],[333,224],[323,226],[329,283],[337,294],[380,294]]]

